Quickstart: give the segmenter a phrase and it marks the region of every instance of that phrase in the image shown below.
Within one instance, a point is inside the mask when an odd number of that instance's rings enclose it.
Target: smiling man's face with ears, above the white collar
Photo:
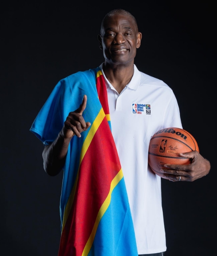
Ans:
[[[141,33],[137,31],[133,18],[116,14],[105,20],[98,40],[107,63],[124,64],[134,62]]]

